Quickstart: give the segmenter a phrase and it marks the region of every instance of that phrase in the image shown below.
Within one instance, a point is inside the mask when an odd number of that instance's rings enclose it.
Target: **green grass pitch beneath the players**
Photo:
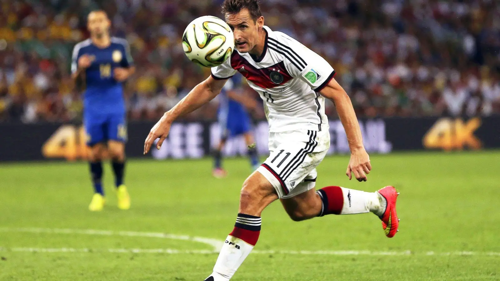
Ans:
[[[294,222],[274,202],[232,280],[500,279],[500,151],[371,155],[367,182],[347,179],[347,161],[326,158],[317,186],[394,185],[398,234],[373,214]],[[244,158],[225,166],[215,179],[209,159],[129,160],[132,207],[120,211],[106,163],[107,205],[92,213],[86,163],[1,164],[0,280],[203,280],[249,173]]]

